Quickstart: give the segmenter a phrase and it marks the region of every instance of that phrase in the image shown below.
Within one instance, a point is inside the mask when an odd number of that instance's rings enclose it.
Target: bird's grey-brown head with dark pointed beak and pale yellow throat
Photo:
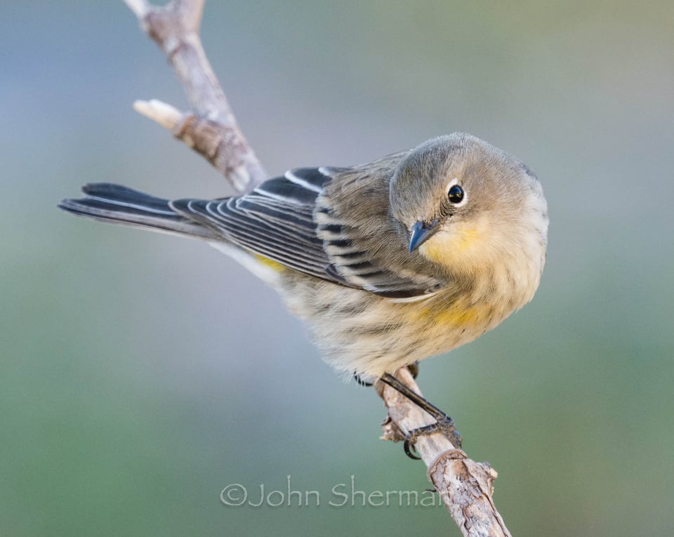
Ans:
[[[454,273],[517,260],[540,277],[548,233],[541,184],[474,136],[454,133],[411,150],[392,177],[390,208],[413,256]]]

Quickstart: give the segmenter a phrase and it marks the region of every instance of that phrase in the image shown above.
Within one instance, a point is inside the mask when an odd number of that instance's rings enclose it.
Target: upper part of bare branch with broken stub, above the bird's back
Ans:
[[[124,1],[169,58],[194,114],[181,114],[176,125],[172,119],[169,124],[160,121],[166,110],[157,110],[156,106],[152,111],[152,107],[143,105],[136,110],[170,128],[176,138],[206,157],[237,192],[249,192],[262,183],[267,178],[264,168],[244,138],[201,46],[199,25],[204,0],[174,0],[161,7],[145,0]]]

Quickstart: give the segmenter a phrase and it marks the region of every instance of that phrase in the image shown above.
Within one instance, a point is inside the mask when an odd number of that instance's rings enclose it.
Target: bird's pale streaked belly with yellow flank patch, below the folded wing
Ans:
[[[308,321],[326,362],[349,376],[378,377],[448,352],[510,313],[487,300],[472,303],[456,296],[395,303],[327,282],[296,288],[286,303]]]

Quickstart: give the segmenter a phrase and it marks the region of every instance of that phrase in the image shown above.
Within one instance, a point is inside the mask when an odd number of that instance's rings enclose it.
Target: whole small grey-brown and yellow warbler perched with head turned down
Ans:
[[[299,168],[225,199],[83,190],[60,207],[208,241],[282,294],[329,364],[359,376],[494,328],[531,300],[546,259],[536,176],[463,133],[362,166]]]

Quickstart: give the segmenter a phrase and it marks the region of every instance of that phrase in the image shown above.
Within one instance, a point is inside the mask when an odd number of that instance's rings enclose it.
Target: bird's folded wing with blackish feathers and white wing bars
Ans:
[[[397,158],[391,160],[390,173]],[[367,177],[360,168],[298,168],[241,197],[179,199],[171,207],[227,241],[305,274],[389,298],[428,295],[440,285],[436,279],[419,276],[414,266],[404,275],[384,268],[390,266],[388,247],[402,251],[404,263],[410,264],[409,254],[388,217],[390,175],[374,186],[372,177],[358,180]],[[370,186],[351,192],[341,183]],[[348,216],[341,211],[344,195],[357,209]],[[346,223],[349,218],[354,222]],[[379,233],[364,224],[372,227],[372,219]]]

